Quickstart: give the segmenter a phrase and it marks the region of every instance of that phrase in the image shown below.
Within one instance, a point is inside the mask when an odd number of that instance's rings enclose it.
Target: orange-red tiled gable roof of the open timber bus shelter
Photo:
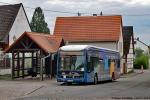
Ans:
[[[35,32],[25,32],[6,50],[6,52],[10,52],[14,45],[17,45],[17,43],[19,43],[24,36],[29,37],[33,42],[35,42],[42,50],[47,53],[57,52],[62,42],[62,37],[60,36],[53,36],[49,34]]]

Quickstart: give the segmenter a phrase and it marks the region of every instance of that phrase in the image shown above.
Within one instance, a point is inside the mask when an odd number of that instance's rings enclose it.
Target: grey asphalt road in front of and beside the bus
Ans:
[[[62,85],[46,82],[17,100],[150,100],[150,70],[122,76],[98,85]]]

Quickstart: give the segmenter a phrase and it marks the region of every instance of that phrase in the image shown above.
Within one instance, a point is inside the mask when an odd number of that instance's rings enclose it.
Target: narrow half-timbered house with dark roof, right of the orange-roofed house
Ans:
[[[133,70],[134,59],[134,34],[133,26],[123,27],[123,57],[125,59],[124,73],[128,73]]]

